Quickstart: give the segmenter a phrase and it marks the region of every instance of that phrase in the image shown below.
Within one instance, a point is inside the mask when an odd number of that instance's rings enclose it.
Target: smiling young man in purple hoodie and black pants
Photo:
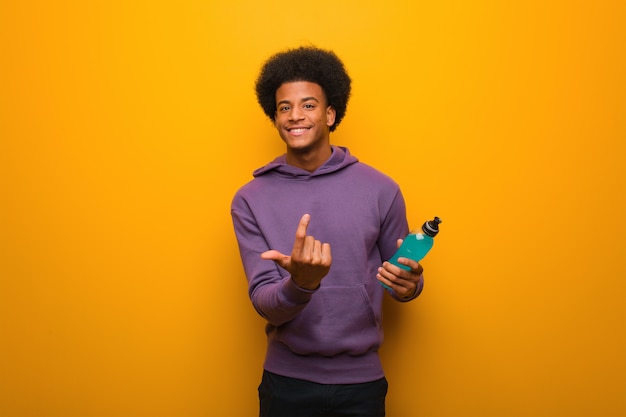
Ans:
[[[408,233],[389,177],[330,144],[350,77],[331,51],[272,56],[256,81],[286,153],[257,169],[231,213],[254,308],[267,320],[261,416],[384,416],[385,284],[415,299],[422,267],[385,262]]]

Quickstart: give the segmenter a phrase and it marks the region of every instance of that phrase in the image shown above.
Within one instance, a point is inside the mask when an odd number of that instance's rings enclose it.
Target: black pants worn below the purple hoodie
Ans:
[[[260,417],[383,417],[387,380],[317,384],[263,372]]]

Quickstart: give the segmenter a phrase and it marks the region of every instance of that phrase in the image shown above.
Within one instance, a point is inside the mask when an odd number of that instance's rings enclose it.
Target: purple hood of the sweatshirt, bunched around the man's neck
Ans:
[[[256,178],[270,172],[274,172],[285,177],[300,177],[304,179],[330,174],[331,172],[339,171],[359,161],[355,156],[350,154],[348,148],[344,148],[342,146],[331,146],[331,148],[333,153],[330,158],[328,158],[328,160],[314,172],[309,172],[302,168],[287,164],[286,155],[281,155],[264,167],[255,170],[252,175]]]

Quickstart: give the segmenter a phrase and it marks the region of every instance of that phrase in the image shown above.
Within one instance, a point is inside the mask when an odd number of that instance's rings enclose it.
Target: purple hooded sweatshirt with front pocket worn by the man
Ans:
[[[323,384],[382,378],[384,289],[376,272],[408,233],[398,185],[335,146],[313,173],[286,164],[283,155],[253,175],[235,194],[231,213],[250,299],[268,322],[264,368]],[[330,243],[333,258],[313,291],[260,257],[270,249],[291,254],[305,213],[307,233]]]

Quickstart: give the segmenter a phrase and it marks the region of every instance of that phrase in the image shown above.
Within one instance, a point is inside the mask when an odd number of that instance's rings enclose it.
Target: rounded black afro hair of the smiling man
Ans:
[[[271,56],[256,80],[257,101],[272,122],[276,119],[276,90],[286,82],[308,81],[318,84],[328,105],[335,109],[334,131],[346,114],[350,98],[350,76],[334,52],[301,46]]]

